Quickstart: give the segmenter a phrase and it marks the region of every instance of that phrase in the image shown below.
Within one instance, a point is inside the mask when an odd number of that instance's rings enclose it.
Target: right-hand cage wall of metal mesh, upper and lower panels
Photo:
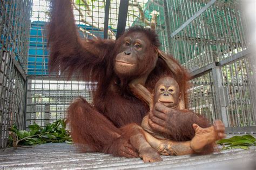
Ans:
[[[166,2],[170,20],[169,46],[174,58],[191,71],[204,69],[209,64],[215,65],[215,62],[219,62],[218,66],[221,67],[223,80],[209,81],[207,71],[200,77],[193,75],[198,78],[191,81],[190,108],[205,114],[210,120],[226,117],[228,127],[255,126],[255,82],[252,79],[255,72],[248,58],[226,63],[234,55],[248,49],[246,18],[240,11],[239,1]],[[218,83],[221,83],[221,87],[215,86]],[[221,94],[214,96],[219,89],[224,91],[221,93],[224,97]],[[225,102],[219,101],[223,98],[226,98]],[[218,111],[220,105],[225,111]],[[213,106],[217,109],[214,110]]]

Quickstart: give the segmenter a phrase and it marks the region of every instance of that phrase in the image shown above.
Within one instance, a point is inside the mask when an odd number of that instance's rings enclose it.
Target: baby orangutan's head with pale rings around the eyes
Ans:
[[[166,107],[176,108],[181,97],[177,81],[171,77],[161,78],[157,81],[153,96],[154,104],[159,102]]]

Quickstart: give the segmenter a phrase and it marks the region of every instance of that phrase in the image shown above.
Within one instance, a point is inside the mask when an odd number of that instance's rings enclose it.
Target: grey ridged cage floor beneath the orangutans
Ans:
[[[62,143],[3,149],[0,169],[256,169],[256,146],[210,155],[163,156],[163,160],[144,164],[139,158],[79,153],[73,145]]]

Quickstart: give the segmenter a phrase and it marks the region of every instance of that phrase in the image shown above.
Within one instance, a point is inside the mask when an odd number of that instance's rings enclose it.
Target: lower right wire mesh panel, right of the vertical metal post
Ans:
[[[252,68],[248,62],[247,58],[240,59],[221,69],[228,94],[227,120],[231,127],[255,126],[255,82],[252,81]]]

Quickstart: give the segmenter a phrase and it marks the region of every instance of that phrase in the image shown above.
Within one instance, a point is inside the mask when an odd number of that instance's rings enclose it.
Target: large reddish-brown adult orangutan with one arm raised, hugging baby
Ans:
[[[92,105],[78,98],[68,110],[73,141],[86,151],[138,157],[130,144],[135,133],[132,123],[142,123],[149,107],[130,92],[131,82],[152,90],[162,74],[168,75],[179,84],[180,103],[186,103],[187,73],[173,58],[161,55],[157,35],[150,29],[130,28],[116,41],[82,39],[70,0],[52,1],[48,29],[50,71],[68,76],[76,72],[85,81],[97,82]],[[157,121],[159,111],[152,112],[153,130],[172,133],[173,127],[167,122],[169,111],[166,107],[162,112],[166,119],[161,124]]]

